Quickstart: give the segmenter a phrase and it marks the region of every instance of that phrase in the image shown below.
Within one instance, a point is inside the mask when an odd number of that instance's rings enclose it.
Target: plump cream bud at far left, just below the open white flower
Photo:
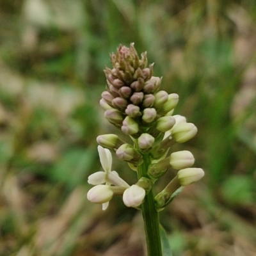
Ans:
[[[97,185],[88,191],[87,198],[93,203],[104,204],[109,202],[113,195],[114,193],[110,186]]]

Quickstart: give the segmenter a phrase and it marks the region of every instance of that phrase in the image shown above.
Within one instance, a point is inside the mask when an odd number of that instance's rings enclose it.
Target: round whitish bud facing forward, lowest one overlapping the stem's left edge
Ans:
[[[124,191],[123,201],[127,207],[138,207],[145,198],[145,189],[138,185],[132,185]]]

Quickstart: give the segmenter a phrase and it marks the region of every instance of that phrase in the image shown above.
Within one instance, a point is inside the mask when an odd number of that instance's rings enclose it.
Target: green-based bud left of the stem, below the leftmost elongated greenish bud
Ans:
[[[132,145],[125,143],[116,150],[116,156],[130,163],[138,163],[141,161],[141,154]]]

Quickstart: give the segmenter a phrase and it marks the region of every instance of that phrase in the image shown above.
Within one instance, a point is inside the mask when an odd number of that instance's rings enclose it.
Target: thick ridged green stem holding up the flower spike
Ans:
[[[147,177],[148,165],[150,164],[150,157],[148,154],[143,155],[143,164],[138,166],[138,177]],[[152,184],[153,185],[153,184]],[[154,189],[148,192],[145,200],[141,205],[141,211],[144,220],[145,234],[147,240],[148,256],[162,256],[161,237],[159,230],[159,216],[156,211],[154,201]]]

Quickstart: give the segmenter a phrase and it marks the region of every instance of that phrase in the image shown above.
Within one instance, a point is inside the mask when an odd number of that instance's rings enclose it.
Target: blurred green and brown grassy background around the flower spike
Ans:
[[[86,199],[95,138],[118,132],[102,70],[131,42],[198,127],[173,150],[205,177],[160,214],[173,256],[256,255],[256,1],[0,0],[0,24],[1,256],[143,255],[140,212]]]

